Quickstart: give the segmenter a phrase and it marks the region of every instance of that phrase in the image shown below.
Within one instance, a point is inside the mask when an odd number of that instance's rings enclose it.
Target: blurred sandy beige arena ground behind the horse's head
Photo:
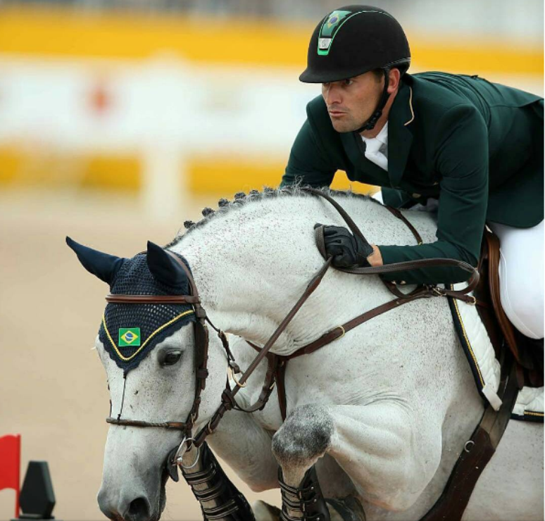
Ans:
[[[170,241],[184,220],[197,220],[217,199],[194,201],[172,222],[150,225],[135,201],[0,193],[0,436],[22,434],[21,480],[29,460],[48,461],[58,520],[104,519],[96,493],[108,430],[106,377],[91,351],[107,288],[83,270],[65,235],[132,256],[148,239]],[[279,491],[258,495],[234,482],[250,502],[280,501]],[[0,491],[1,520],[13,516],[13,504],[13,491]],[[163,519],[201,519],[183,479],[169,481]]]

